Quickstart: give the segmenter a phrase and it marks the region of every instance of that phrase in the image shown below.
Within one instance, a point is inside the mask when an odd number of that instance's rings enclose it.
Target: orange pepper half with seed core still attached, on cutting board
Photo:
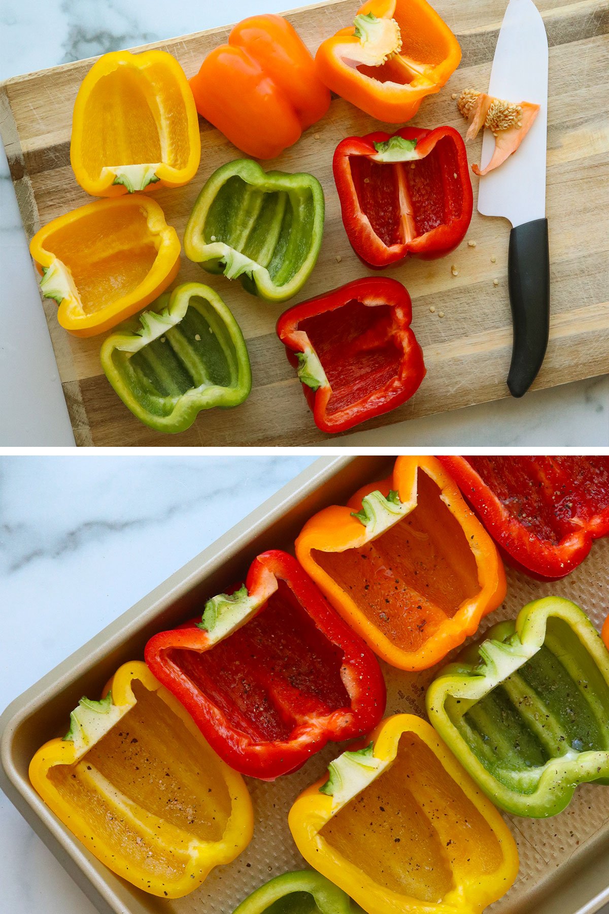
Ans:
[[[337,95],[378,121],[402,123],[460,59],[457,38],[425,0],[368,0],[353,27],[320,45],[315,63]]]

